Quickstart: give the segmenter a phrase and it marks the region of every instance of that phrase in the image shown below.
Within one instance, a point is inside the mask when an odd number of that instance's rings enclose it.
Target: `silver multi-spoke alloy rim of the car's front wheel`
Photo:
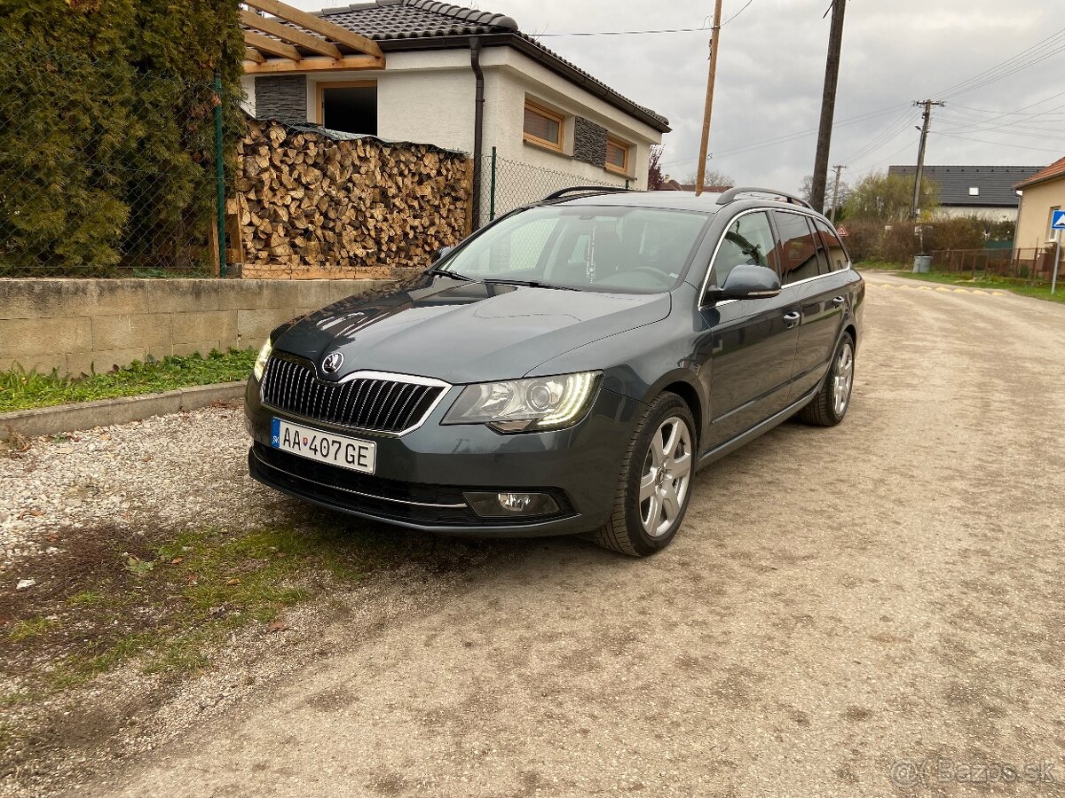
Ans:
[[[652,537],[660,537],[681,516],[691,483],[691,430],[678,416],[658,427],[640,478],[640,520]]]

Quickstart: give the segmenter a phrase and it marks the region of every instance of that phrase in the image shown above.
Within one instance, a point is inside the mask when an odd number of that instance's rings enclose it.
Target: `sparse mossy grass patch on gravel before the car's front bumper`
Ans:
[[[76,687],[129,662],[164,676],[202,670],[234,630],[274,633],[286,610],[432,545],[315,511],[298,527],[155,534],[115,530],[81,554],[65,589],[12,604],[6,636],[18,645],[3,664],[23,678],[9,700]]]

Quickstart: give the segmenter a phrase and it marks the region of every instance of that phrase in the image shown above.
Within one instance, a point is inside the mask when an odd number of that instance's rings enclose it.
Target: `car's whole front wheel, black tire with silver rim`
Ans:
[[[687,403],[676,394],[660,394],[625,450],[613,512],[593,533],[596,544],[629,556],[646,556],[669,545],[691,498],[697,439]]]

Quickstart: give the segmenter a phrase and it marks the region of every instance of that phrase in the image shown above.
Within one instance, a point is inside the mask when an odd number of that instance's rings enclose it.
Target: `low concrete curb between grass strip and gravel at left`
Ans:
[[[185,410],[206,408],[215,402],[240,399],[244,396],[245,382],[223,382],[214,385],[196,385],[163,394],[124,396],[95,402],[58,404],[39,410],[19,410],[0,413],[0,440],[10,440],[13,433],[24,437],[55,435],[60,432],[110,427],[113,423],[140,421],[149,416],[164,416]]]

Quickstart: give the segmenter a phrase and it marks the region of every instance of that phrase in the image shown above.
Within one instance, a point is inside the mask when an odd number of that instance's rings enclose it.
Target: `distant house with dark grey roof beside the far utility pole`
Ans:
[[[915,166],[891,166],[888,174],[914,179]],[[1020,197],[1018,180],[1032,173],[1031,166],[925,166],[924,178],[939,184],[939,216],[979,216],[988,221],[1017,218]]]

